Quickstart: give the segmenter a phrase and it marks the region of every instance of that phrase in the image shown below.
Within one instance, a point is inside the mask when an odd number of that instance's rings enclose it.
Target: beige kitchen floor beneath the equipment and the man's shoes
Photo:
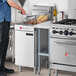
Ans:
[[[11,62],[6,62],[6,67],[13,68],[15,70],[14,74],[8,74],[7,76],[39,76],[38,74],[34,74],[33,69],[31,68],[23,68],[22,72],[18,72],[18,66]],[[51,76],[55,76],[54,70],[51,70],[51,72]],[[48,70],[45,67],[42,67],[40,76],[49,76]],[[58,71],[58,76],[76,76],[76,73]]]

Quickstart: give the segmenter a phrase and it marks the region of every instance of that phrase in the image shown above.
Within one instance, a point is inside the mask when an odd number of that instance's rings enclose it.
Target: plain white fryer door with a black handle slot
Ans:
[[[15,64],[34,67],[34,32],[15,31]]]

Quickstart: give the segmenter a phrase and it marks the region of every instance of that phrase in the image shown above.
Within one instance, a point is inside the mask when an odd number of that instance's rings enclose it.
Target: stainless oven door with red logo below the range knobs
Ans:
[[[76,40],[50,38],[50,62],[76,65]]]

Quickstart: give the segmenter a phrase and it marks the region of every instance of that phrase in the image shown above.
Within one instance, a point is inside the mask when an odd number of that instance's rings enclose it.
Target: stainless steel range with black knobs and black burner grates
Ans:
[[[50,68],[76,72],[76,20],[56,22],[50,32]]]

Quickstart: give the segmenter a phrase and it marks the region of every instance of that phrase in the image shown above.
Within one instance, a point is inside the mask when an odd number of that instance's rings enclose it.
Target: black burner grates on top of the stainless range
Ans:
[[[64,19],[54,24],[63,24],[63,25],[76,25],[76,19]]]

